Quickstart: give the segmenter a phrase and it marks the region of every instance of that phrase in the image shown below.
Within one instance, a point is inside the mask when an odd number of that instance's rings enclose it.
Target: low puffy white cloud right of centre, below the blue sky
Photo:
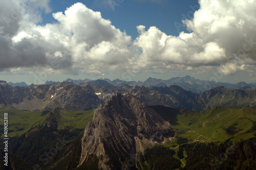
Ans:
[[[224,48],[217,42],[204,43],[194,33],[182,32],[176,37],[167,36],[156,27],[147,31],[144,26],[137,29],[140,36],[134,44],[141,48],[145,61],[200,66],[217,65],[226,59]]]

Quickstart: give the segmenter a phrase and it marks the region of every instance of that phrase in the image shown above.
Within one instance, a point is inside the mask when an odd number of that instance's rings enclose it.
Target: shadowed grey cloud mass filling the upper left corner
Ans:
[[[26,11],[30,5],[30,10]],[[15,43],[15,36],[28,35],[22,32],[23,26],[31,16],[40,18],[35,9],[46,9],[48,1],[7,1],[3,0],[0,6],[0,68],[30,67],[33,65],[45,65],[45,51],[38,41],[24,38]],[[47,8],[47,10],[50,10]],[[37,17],[38,16],[38,17]],[[34,20],[38,21],[38,20]]]

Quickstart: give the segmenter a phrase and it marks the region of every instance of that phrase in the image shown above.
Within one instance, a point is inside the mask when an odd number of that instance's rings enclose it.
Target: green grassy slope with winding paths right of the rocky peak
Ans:
[[[225,141],[231,137],[238,141],[253,137],[256,133],[256,108],[215,107],[202,112],[166,107],[153,109],[169,120],[176,132],[184,132],[176,133],[178,136],[193,141]],[[192,124],[188,125],[189,122]]]

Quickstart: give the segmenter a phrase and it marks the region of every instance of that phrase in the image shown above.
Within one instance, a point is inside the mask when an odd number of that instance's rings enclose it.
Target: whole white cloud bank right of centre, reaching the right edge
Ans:
[[[135,45],[141,48],[143,64],[155,70],[166,65],[216,66],[225,75],[255,63],[255,1],[199,1],[191,20],[183,20],[191,33],[167,36],[156,27],[138,26]],[[168,70],[168,67],[166,67]]]

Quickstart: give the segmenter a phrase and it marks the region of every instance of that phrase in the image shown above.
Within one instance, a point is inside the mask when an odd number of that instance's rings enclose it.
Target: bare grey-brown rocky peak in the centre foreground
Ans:
[[[131,94],[113,93],[84,130],[80,165],[90,154],[103,169],[136,168],[136,153],[174,136],[168,122]],[[133,162],[133,163],[131,163]]]

